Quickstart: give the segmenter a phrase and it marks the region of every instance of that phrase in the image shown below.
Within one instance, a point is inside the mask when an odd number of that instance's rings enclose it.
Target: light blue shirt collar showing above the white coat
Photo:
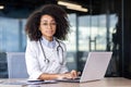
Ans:
[[[48,48],[55,48],[55,46],[56,46],[55,37],[53,37],[52,41],[48,41],[45,37],[41,37],[41,42]]]

